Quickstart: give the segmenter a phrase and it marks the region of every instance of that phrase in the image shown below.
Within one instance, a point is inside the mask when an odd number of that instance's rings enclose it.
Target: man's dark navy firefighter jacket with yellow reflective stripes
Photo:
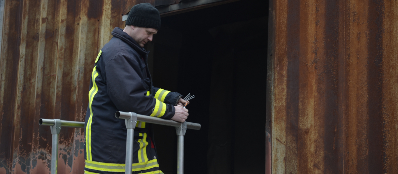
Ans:
[[[92,71],[85,122],[86,168],[90,167],[88,162],[102,162],[104,166],[125,163],[126,126],[124,120],[115,118],[116,111],[170,119],[181,98],[179,93],[152,86],[146,63],[148,51],[120,28],[113,29],[112,35]],[[145,123],[139,122],[136,127],[137,136],[147,131]]]

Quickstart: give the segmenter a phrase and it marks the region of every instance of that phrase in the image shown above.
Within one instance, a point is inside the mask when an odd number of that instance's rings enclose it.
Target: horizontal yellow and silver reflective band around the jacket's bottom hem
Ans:
[[[124,172],[126,164],[115,164],[106,162],[95,162],[86,160],[85,168],[93,170],[107,171],[107,172]],[[148,162],[133,163],[132,171],[147,170],[150,168],[159,167],[158,160],[153,159]]]

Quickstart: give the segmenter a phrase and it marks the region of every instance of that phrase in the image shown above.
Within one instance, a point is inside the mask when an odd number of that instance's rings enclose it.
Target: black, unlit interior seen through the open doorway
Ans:
[[[239,0],[162,17],[146,44],[154,86],[196,96],[185,173],[265,173],[267,15],[268,1]],[[160,169],[176,174],[176,130],[153,127]]]

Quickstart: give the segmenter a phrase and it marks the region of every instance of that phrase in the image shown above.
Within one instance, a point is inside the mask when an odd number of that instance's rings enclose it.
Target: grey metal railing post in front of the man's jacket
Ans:
[[[137,114],[129,112],[131,117],[129,120],[125,120],[127,128],[127,139],[126,139],[126,168],[125,174],[131,174],[133,168],[133,141],[134,141],[134,128],[137,124]]]

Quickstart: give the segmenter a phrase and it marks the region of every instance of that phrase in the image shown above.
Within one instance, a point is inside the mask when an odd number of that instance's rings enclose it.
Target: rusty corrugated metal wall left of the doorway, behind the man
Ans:
[[[5,0],[0,174],[49,173],[51,132],[39,118],[83,121],[90,75],[122,14],[151,0]],[[63,128],[59,174],[82,174],[84,133]]]

